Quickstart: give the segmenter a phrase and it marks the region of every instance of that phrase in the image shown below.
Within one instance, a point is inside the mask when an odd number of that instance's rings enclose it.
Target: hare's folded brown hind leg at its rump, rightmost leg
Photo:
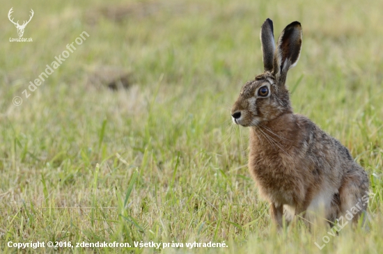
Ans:
[[[363,168],[352,168],[345,174],[341,188],[339,188],[339,197],[341,214],[338,214],[338,217],[343,215],[348,221],[352,220],[357,223],[362,214],[366,215],[368,177]]]

